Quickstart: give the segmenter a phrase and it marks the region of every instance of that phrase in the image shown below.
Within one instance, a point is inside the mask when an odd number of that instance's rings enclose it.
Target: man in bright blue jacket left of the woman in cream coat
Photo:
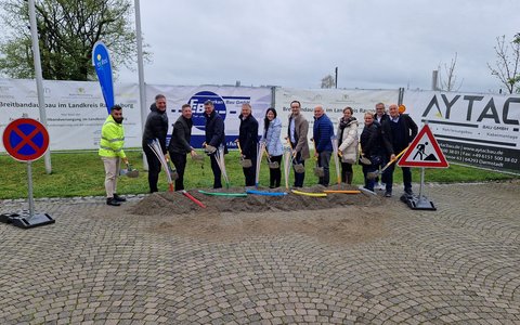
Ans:
[[[314,107],[314,128],[313,139],[317,166],[323,168],[324,174],[320,178],[318,184],[328,186],[330,180],[329,165],[333,154],[333,142],[330,138],[334,135],[334,126],[328,116],[324,113],[323,106]]]

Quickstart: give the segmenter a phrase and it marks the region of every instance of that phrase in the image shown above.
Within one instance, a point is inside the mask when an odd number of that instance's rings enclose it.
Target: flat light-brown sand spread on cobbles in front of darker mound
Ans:
[[[258,236],[303,235],[326,243],[362,243],[386,235],[381,208],[349,206],[326,210],[247,213],[223,212],[154,218],[148,231],[210,242]]]

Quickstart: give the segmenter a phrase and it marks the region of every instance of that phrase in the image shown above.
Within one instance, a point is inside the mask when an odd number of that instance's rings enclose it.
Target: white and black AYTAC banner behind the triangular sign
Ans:
[[[451,161],[520,171],[520,96],[406,91],[407,113],[428,121]]]

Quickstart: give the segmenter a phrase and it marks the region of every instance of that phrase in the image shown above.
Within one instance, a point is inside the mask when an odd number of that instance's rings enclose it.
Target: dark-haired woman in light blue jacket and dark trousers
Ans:
[[[280,134],[282,132],[282,121],[276,117],[276,109],[268,108],[265,118],[263,119],[263,139],[265,140],[265,148],[268,151],[271,162],[278,162],[277,168],[269,168],[269,187],[280,187],[282,180],[282,155],[284,154],[284,146]]]

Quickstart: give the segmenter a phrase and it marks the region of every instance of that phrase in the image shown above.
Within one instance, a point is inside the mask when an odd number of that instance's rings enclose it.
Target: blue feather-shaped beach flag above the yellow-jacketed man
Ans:
[[[102,41],[98,41],[92,49],[92,65],[100,79],[101,91],[105,100],[106,110],[110,114],[114,106],[114,81],[112,80],[112,66],[108,49]]]

